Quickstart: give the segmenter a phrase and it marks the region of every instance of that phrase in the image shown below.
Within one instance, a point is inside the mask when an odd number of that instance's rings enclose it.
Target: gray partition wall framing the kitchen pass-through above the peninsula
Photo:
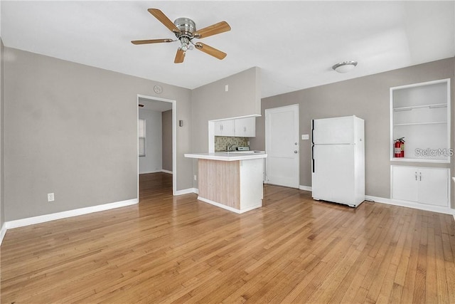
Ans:
[[[259,73],[259,68],[250,68],[192,91],[193,152],[208,152],[209,120],[261,114]],[[193,174],[198,174],[197,159]]]

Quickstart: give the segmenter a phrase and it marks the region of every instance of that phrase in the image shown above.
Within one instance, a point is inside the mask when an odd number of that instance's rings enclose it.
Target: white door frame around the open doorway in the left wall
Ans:
[[[137,94],[137,121],[139,121],[139,98],[172,103],[172,195],[175,196],[177,195],[177,100]],[[139,149],[139,128],[137,132],[136,147]],[[137,157],[137,200],[139,201],[139,157]]]

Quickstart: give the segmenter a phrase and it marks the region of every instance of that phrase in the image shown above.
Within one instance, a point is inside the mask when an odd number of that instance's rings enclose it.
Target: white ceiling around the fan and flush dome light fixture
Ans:
[[[151,16],[188,17],[204,28],[232,30],[200,40],[228,53],[219,61],[188,51],[173,63],[177,42]],[[268,97],[325,83],[455,56],[454,1],[1,1],[5,46],[198,88],[253,66]],[[338,74],[331,66],[358,61]]]

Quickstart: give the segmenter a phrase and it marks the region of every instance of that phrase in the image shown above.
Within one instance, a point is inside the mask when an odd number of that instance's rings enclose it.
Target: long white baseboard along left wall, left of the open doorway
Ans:
[[[68,210],[68,211],[62,211],[62,212],[57,212],[54,214],[44,214],[41,216],[33,216],[33,217],[26,218],[26,219],[16,219],[14,221],[6,221],[5,224],[6,224],[6,229],[18,228],[18,227],[23,227],[23,226],[33,225],[33,224],[44,223],[46,221],[54,221],[56,219],[66,219],[66,218],[72,217],[72,216],[90,214],[93,212],[105,211],[105,210],[115,209],[115,208],[124,207],[124,206],[130,206],[130,205],[137,204],[138,201],[139,201],[138,199],[128,199],[127,201],[117,201],[114,203],[90,206],[90,207]]]

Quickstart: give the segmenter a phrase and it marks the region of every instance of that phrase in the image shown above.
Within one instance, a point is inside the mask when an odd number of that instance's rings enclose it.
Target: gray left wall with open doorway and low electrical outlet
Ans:
[[[137,94],[177,100],[177,189],[192,185],[191,91],[5,48],[5,219],[137,198]],[[48,203],[47,193],[55,193]]]

